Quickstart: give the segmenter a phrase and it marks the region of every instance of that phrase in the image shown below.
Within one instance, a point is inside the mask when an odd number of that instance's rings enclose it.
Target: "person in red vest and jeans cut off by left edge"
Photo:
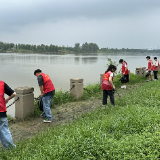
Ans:
[[[4,94],[9,97],[4,98]],[[8,127],[6,103],[12,99],[16,93],[3,81],[0,81],[0,140],[5,149],[15,148],[12,135]]]

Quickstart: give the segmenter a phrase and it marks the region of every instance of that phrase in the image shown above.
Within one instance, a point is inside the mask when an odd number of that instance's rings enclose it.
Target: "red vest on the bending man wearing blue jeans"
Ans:
[[[43,77],[43,94],[55,90],[54,85],[47,74],[41,73]]]

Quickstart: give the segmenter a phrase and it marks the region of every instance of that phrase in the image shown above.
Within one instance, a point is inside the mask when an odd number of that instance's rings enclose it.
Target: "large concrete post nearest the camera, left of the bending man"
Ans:
[[[19,100],[15,103],[15,117],[24,120],[28,115],[34,113],[34,88],[18,87],[15,89]]]

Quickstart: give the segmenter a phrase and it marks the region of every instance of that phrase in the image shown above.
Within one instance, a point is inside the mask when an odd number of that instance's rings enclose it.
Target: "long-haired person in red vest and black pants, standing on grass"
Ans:
[[[103,81],[102,81],[102,90],[103,90],[103,100],[102,105],[107,105],[107,98],[110,97],[110,101],[112,106],[115,106],[114,103],[114,94],[113,89],[115,86],[113,84],[113,72],[117,70],[117,67],[114,65],[110,65],[108,69],[103,74]]]

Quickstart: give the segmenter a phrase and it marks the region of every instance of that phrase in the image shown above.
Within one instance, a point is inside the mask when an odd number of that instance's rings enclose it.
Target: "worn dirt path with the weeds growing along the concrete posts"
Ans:
[[[120,75],[115,78],[116,90],[120,96],[129,94],[133,89],[139,88],[144,80],[134,76],[132,74],[131,84],[128,85],[127,89],[120,88],[120,82],[118,79]],[[138,82],[139,80],[139,82]],[[138,83],[137,83],[138,82]],[[95,109],[99,108],[102,104],[102,90],[99,84],[88,85],[85,87],[84,96],[80,100],[76,100],[67,94],[66,96],[63,91],[56,92],[52,101],[52,117],[53,123],[43,123],[43,118],[40,118],[42,113],[37,104],[35,104],[34,115],[28,117],[25,121],[13,120],[9,123],[9,127],[13,136],[14,142],[31,138],[38,132],[48,129],[48,127],[56,127],[63,124],[71,123],[77,120],[80,116],[85,113],[91,113]],[[118,94],[115,93],[115,99],[119,98]],[[110,100],[108,99],[108,102]],[[17,130],[18,128],[18,130]]]

